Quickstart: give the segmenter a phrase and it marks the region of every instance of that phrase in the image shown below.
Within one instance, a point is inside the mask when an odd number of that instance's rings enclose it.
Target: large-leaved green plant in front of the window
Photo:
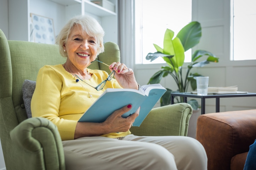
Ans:
[[[171,92],[187,92],[188,85],[191,84],[193,90],[196,89],[196,76],[202,76],[198,73],[190,73],[194,67],[203,67],[210,62],[219,62],[219,58],[213,55],[211,52],[205,50],[196,50],[192,54],[191,63],[187,65],[187,71],[185,76],[182,73],[182,66],[185,59],[185,51],[191,49],[199,43],[202,36],[202,28],[199,22],[193,21],[183,27],[174,38],[174,32],[167,29],[164,34],[163,48],[156,44],[153,44],[157,50],[155,53],[148,53],[147,60],[153,61],[158,57],[162,57],[167,63],[167,66],[163,66],[161,70],[157,71],[149,80],[148,84],[159,83],[163,77],[170,75],[178,86],[178,90],[171,90],[167,88],[167,92],[162,96],[160,102],[161,106],[170,105]],[[207,57],[205,60],[201,57]],[[183,102],[183,98],[178,102]],[[198,102],[191,100],[188,103],[193,109],[198,108]]]

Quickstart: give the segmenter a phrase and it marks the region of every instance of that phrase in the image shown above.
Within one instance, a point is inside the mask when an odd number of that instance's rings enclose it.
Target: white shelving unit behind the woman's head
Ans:
[[[115,12],[94,4],[90,0],[8,0],[9,39],[30,41],[30,13],[53,19],[55,36],[75,15],[91,15],[105,31],[104,42],[118,44],[117,0]]]

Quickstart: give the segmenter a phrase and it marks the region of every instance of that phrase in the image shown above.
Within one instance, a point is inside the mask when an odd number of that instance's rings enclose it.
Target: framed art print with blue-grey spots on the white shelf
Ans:
[[[30,13],[30,41],[55,44],[53,19]]]

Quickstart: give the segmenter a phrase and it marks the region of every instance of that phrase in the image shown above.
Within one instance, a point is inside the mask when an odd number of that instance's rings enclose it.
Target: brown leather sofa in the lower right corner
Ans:
[[[208,157],[208,170],[243,170],[256,139],[256,109],[200,115],[196,139]]]

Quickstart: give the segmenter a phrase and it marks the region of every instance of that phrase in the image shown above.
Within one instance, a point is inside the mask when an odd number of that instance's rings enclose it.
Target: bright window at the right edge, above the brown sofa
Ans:
[[[256,1],[231,0],[230,60],[256,59]]]

